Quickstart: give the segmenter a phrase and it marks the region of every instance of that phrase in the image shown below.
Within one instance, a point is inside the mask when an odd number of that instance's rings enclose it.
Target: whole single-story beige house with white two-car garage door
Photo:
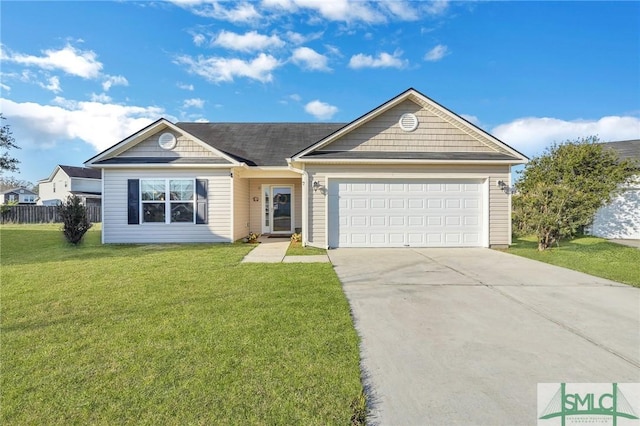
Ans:
[[[527,158],[409,89],[350,123],[160,119],[87,160],[105,243],[231,242],[302,231],[315,247],[504,247]]]

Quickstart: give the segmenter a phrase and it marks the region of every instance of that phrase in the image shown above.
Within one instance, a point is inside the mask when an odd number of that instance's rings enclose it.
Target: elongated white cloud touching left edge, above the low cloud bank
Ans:
[[[102,63],[91,50],[79,50],[71,45],[62,49],[48,49],[42,56],[13,53],[2,49],[2,60],[20,65],[35,66],[46,70],[61,70],[67,74],[85,79],[97,78],[102,70]]]

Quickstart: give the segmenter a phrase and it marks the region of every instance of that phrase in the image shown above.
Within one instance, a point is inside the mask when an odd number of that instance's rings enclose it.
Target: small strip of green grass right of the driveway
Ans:
[[[602,238],[578,237],[543,252],[535,237],[517,238],[505,251],[640,287],[640,250]]]

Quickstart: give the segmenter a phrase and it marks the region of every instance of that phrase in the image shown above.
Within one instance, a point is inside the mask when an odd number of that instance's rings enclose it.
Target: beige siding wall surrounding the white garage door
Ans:
[[[508,245],[509,195],[502,191],[497,181],[508,182],[508,165],[311,165],[306,166],[309,181],[318,181],[327,187],[329,177],[360,178],[459,178],[489,177],[489,245]],[[309,245],[326,247],[327,195],[321,190],[309,188]]]

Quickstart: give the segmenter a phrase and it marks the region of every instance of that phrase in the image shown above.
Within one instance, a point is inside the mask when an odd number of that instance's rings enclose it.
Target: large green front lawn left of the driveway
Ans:
[[[97,228],[0,239],[2,424],[349,424],[358,338],[330,264]]]

